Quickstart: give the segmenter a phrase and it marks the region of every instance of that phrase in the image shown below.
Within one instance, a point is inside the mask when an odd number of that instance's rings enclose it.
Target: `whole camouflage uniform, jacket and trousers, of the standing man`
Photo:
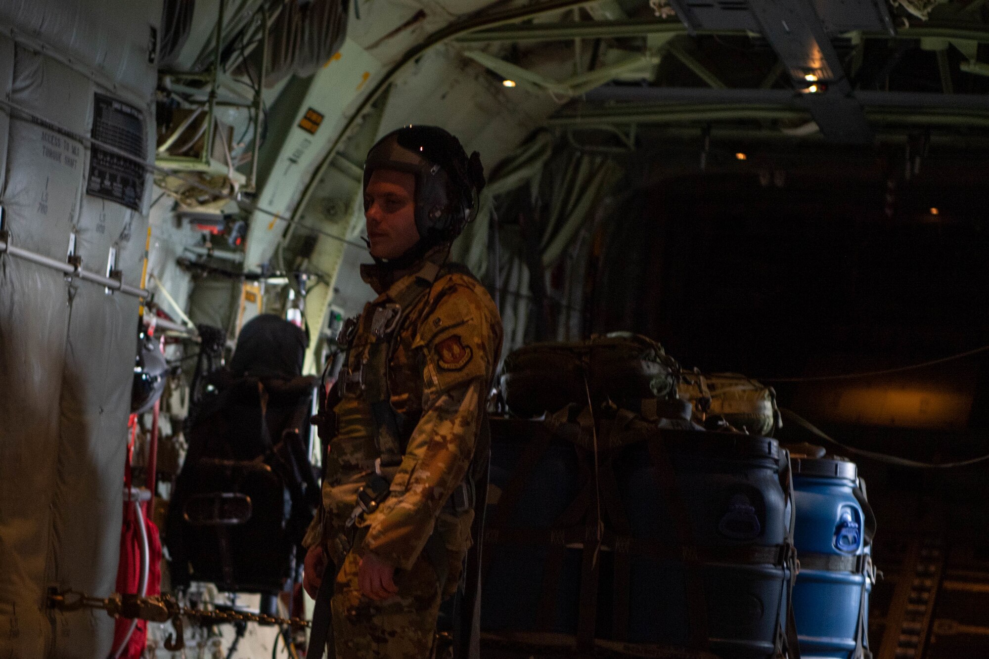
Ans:
[[[425,261],[442,265],[447,255],[448,247],[434,248]],[[369,315],[394,303],[399,292],[415,283],[421,265],[400,272],[361,267],[362,278],[379,296],[365,307],[350,341],[350,371],[361,372],[375,340]],[[335,584],[333,630],[341,658],[430,656],[441,598],[456,590],[471,545],[474,512],[457,513],[444,504],[464,480],[484,422],[501,349],[501,320],[474,277],[462,269],[449,270],[443,267],[434,274],[431,286],[418,282],[428,290],[407,308],[393,334],[388,393],[392,407],[414,429],[389,498],[360,522],[361,532]],[[354,510],[357,490],[381,456],[366,398],[363,387],[347,386],[335,407],[337,431],[329,444],[322,490],[324,519],[331,527],[314,522],[307,546],[339,532]],[[434,532],[449,559],[442,594],[434,566],[423,552]],[[397,596],[376,603],[361,595],[357,569],[368,551],[397,567]],[[336,564],[341,558],[330,556]]]

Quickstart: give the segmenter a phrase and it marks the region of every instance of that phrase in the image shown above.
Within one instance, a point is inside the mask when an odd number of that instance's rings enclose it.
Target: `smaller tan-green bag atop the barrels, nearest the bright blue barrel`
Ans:
[[[764,437],[771,437],[782,425],[772,387],[739,373],[683,371],[677,389],[679,397],[693,407],[697,424],[722,418],[731,426],[726,429]]]

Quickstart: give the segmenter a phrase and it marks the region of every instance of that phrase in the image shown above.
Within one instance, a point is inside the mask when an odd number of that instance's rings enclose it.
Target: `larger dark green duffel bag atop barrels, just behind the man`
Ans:
[[[571,403],[665,398],[676,392],[679,367],[663,346],[631,332],[584,341],[533,343],[504,360],[501,395],[508,410],[531,419]]]

